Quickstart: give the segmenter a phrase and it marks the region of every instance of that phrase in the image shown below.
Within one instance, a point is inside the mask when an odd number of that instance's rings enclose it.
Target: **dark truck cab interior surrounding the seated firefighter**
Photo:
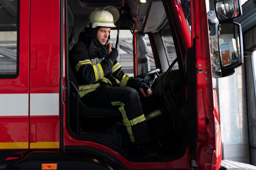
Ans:
[[[175,42],[177,41],[176,37],[172,36],[173,23],[168,22],[170,18],[166,16],[163,2],[148,0],[147,3],[142,4],[137,0],[68,0],[67,22],[65,22],[67,23],[68,50],[77,43],[88,15],[99,7],[107,6],[117,8],[120,13],[120,26],[111,32],[116,33],[117,29],[120,29],[118,61],[123,66],[123,71],[132,76],[144,78],[151,85],[160,106],[159,109],[168,122],[168,127],[162,135],[151,139],[150,147],[157,151],[156,156],[132,155],[127,131],[122,124],[119,111],[83,104],[79,100],[78,84],[74,73],[67,62],[68,129],[74,137],[106,145],[129,160],[177,159],[186,150],[182,123],[186,118],[180,114],[185,97],[181,65],[183,56],[176,52]],[[189,15],[189,8],[186,5],[182,4],[182,9],[184,9],[184,15]],[[126,36],[128,34],[129,38]],[[137,51],[140,55],[137,57],[137,74],[134,73],[135,58],[132,45],[135,35]],[[116,34],[111,35],[113,45],[117,41],[115,36]],[[68,58],[67,61],[69,61]]]

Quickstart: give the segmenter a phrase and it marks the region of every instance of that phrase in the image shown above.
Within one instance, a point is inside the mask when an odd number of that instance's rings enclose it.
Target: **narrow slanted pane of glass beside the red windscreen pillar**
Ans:
[[[177,58],[174,41],[173,41],[173,35],[171,34],[170,28],[163,29],[161,31],[161,37],[164,44],[164,49],[168,58],[168,64],[171,65],[171,63]],[[178,63],[175,63],[173,66],[173,70],[179,69]]]

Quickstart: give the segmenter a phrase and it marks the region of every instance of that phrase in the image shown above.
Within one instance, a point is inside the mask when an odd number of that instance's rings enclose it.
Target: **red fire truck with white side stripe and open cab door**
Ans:
[[[0,168],[219,169],[213,77],[243,64],[240,1],[229,5],[216,0],[207,14],[204,0],[0,0]],[[119,112],[79,100],[69,52],[90,12],[107,6],[120,13],[119,63],[152,86],[171,127],[153,157],[129,154]],[[219,22],[219,72],[208,20]]]

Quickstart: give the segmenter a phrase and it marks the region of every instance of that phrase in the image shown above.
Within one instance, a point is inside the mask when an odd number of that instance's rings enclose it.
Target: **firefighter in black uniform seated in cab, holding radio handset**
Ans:
[[[150,140],[139,93],[148,98],[152,89],[143,79],[121,71],[116,60],[118,51],[108,41],[118,19],[115,7],[92,11],[78,43],[70,52],[70,63],[79,84],[80,99],[85,104],[118,109],[130,142],[139,146]],[[161,113],[152,112],[151,117],[158,114]]]

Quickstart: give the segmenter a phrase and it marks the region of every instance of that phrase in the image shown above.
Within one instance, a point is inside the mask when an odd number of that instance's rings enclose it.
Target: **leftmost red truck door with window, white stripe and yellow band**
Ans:
[[[28,149],[29,0],[0,7],[0,150]]]

